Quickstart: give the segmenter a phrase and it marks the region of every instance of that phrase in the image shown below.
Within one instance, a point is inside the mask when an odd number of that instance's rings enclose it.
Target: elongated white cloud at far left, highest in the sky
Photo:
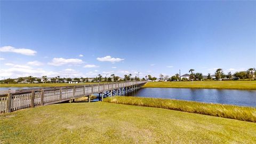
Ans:
[[[30,50],[30,49],[17,49],[12,46],[3,46],[0,47],[0,52],[14,52],[14,53],[19,53],[19,54],[24,54],[24,55],[35,55],[36,51]]]

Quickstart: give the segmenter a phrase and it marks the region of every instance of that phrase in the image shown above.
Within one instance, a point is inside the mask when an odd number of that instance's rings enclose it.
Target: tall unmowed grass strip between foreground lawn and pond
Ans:
[[[232,118],[241,121],[256,122],[256,108],[203,103],[194,101],[141,98],[141,97],[108,97],[105,102],[121,103],[125,105],[157,107],[189,113]]]

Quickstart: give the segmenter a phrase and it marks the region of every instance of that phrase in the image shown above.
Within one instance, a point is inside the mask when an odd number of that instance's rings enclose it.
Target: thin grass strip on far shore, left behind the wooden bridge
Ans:
[[[99,84],[99,83],[38,83],[38,84],[0,84],[0,87],[53,87],[53,86],[74,86],[74,85],[86,85],[86,84]]]

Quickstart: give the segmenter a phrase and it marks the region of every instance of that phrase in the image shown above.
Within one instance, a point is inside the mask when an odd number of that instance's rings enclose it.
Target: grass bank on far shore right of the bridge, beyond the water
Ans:
[[[256,81],[148,82],[144,87],[256,90]]]

